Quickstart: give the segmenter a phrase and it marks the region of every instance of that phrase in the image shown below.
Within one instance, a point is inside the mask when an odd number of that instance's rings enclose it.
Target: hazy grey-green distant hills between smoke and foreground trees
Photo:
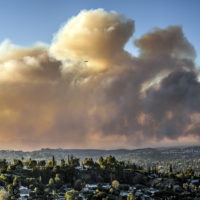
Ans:
[[[200,175],[200,146],[189,147],[165,147],[165,148],[144,148],[144,149],[116,149],[116,150],[98,150],[98,149],[41,149],[37,151],[8,151],[0,150],[0,159],[6,158],[12,162],[13,159],[48,161],[54,155],[57,162],[62,159],[67,160],[68,155],[74,155],[83,162],[85,157],[90,157],[98,161],[100,156],[115,156],[119,161],[130,161],[144,169],[148,167],[159,167],[159,172],[168,173],[169,166],[173,165],[174,171],[186,171],[192,168],[196,175]]]

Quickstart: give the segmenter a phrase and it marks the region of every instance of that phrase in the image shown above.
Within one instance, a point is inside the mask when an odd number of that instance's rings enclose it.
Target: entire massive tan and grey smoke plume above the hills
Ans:
[[[198,141],[200,83],[182,28],[145,34],[135,41],[138,57],[124,50],[133,31],[133,20],[98,9],[69,20],[49,47],[3,42],[2,148]]]

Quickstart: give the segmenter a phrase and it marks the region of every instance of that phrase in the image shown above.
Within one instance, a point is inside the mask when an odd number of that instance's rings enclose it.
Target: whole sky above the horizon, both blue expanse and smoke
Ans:
[[[199,143],[199,8],[0,1],[1,148]]]

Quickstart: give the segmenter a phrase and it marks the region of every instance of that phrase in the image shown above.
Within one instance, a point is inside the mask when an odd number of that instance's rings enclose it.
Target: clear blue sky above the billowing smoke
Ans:
[[[50,43],[53,34],[83,9],[115,10],[135,20],[135,33],[126,49],[135,54],[134,38],[154,27],[182,25],[185,36],[197,52],[200,66],[199,0],[0,0],[0,41],[30,46]]]

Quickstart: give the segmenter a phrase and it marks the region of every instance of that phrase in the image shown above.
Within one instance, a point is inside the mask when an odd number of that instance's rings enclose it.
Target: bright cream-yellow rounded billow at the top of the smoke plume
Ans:
[[[50,52],[61,60],[89,61],[92,68],[109,67],[124,54],[133,28],[132,20],[116,12],[82,11],[59,30]]]

